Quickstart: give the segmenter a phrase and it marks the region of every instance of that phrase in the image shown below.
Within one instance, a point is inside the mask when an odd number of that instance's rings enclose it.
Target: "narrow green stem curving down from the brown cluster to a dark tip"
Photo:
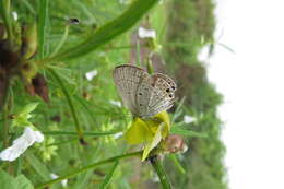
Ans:
[[[82,128],[81,128],[81,126],[79,123],[79,119],[78,119],[78,116],[76,116],[76,113],[75,113],[75,108],[74,108],[74,105],[72,103],[72,99],[71,99],[71,96],[70,96],[69,92],[67,91],[62,80],[56,73],[56,71],[54,71],[52,69],[48,69],[48,71],[52,74],[52,76],[57,80],[58,84],[61,86],[62,92],[63,92],[63,94],[64,94],[64,96],[67,98],[67,102],[69,104],[72,117],[74,119],[78,135],[79,135],[80,139],[83,139],[83,130],[82,130]]]

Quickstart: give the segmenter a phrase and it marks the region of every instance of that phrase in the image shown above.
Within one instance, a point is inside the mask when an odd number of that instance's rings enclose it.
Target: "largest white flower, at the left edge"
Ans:
[[[34,131],[31,127],[26,127],[24,133],[13,141],[12,146],[3,150],[0,153],[0,160],[2,161],[14,161],[21,154],[25,152],[27,147],[33,145],[35,142],[43,142],[44,135],[39,131]]]

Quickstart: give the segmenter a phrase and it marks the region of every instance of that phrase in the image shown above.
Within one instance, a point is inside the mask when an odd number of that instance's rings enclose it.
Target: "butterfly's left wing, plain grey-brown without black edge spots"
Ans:
[[[139,116],[139,107],[135,101],[137,90],[145,78],[149,78],[149,74],[143,69],[131,64],[118,66],[114,70],[114,81],[119,95],[134,116]]]

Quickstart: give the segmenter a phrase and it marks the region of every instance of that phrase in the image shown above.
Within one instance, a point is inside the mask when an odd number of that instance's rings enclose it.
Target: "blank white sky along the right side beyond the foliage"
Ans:
[[[220,44],[209,79],[220,116],[230,189],[284,189],[284,1],[216,0]]]

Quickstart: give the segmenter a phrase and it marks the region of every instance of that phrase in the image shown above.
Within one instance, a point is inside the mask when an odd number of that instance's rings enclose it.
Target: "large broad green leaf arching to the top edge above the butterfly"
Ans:
[[[46,59],[58,61],[81,57],[109,43],[115,37],[130,29],[158,0],[137,0],[119,17],[99,27],[86,40],[62,54]]]

